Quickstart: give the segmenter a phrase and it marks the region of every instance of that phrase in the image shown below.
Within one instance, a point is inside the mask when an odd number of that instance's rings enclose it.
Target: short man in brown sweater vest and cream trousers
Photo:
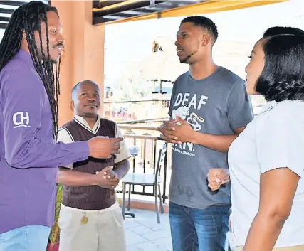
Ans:
[[[100,90],[95,82],[79,82],[72,90],[75,117],[58,132],[64,143],[95,136],[122,137],[115,122],[98,116]],[[125,141],[111,159],[78,161],[58,169],[63,201],[58,225],[60,251],[125,251],[125,224],[114,188],[130,168]]]

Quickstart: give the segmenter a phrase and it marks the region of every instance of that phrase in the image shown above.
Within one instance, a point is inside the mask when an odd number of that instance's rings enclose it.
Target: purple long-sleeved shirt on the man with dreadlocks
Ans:
[[[51,106],[24,50],[0,72],[0,233],[54,223],[57,166],[88,159],[86,141],[53,144]]]

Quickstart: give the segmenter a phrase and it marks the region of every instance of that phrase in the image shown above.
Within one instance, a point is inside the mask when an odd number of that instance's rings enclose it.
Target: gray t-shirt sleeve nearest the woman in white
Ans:
[[[238,80],[231,88],[226,101],[227,115],[232,129],[246,127],[253,119],[251,100],[243,80]]]

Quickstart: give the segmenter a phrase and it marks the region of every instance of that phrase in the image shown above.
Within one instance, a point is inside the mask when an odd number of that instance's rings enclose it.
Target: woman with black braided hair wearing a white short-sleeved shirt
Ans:
[[[250,58],[247,92],[268,103],[229,148],[234,244],[304,251],[304,36],[262,38]]]

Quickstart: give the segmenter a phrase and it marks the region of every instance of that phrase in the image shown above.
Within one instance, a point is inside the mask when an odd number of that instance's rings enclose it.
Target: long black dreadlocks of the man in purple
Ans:
[[[59,73],[61,60],[59,59],[58,64],[55,65],[56,73],[54,74],[54,63],[50,60],[49,52],[48,20],[46,17],[48,11],[53,11],[58,15],[55,7],[43,4],[41,1],[30,1],[14,11],[0,43],[0,70],[19,52],[24,31],[33,65],[43,82],[51,105],[53,139],[56,140],[58,131],[58,94],[60,94]],[[46,26],[47,55],[43,52],[42,47],[41,23],[45,23]],[[39,33],[39,50],[35,40],[35,31]]]

